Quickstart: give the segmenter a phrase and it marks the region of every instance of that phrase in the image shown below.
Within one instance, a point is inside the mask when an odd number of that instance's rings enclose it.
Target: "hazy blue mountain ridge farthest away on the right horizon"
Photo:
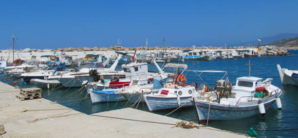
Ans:
[[[296,37],[298,37],[298,33],[280,33],[280,34],[277,34],[274,36],[264,37],[264,38],[260,38],[260,39],[261,39],[261,45],[264,45],[264,44],[277,42],[279,40],[291,39],[291,38],[296,38]],[[247,46],[248,44],[250,44],[250,46],[257,46],[258,38],[256,38],[256,40],[244,42],[244,43],[245,43],[245,46]],[[237,47],[242,46],[242,43],[230,45],[230,47],[234,47],[234,46],[237,46]]]

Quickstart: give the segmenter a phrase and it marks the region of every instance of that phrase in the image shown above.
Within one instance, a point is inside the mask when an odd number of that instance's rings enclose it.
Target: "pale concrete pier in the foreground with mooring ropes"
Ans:
[[[5,134],[0,135],[0,138],[245,137],[243,135],[206,128],[171,128],[173,125],[170,124],[175,124],[181,120],[132,108],[93,114],[107,117],[86,115],[59,104],[51,104],[51,101],[43,98],[19,101],[15,98],[16,94],[19,93],[19,89],[15,89],[2,82],[0,82],[0,88],[0,124],[3,124],[5,127]],[[25,109],[27,111],[22,112]]]

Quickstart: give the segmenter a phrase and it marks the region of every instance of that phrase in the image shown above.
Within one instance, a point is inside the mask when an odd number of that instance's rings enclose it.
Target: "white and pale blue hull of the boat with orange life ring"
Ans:
[[[181,105],[183,107],[189,107],[192,106],[192,103],[189,100],[190,97],[180,97]],[[157,110],[163,110],[163,109],[170,109],[170,108],[178,108],[178,101],[177,97],[157,97],[157,96],[146,96],[144,95],[144,99],[146,101],[147,106],[149,107],[149,110],[157,111]]]

